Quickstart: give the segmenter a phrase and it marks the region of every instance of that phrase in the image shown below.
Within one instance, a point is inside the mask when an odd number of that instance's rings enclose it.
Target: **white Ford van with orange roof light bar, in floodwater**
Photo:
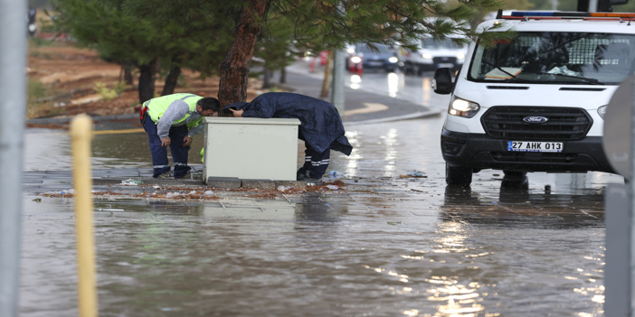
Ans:
[[[472,43],[453,81],[450,69],[434,74],[434,91],[451,95],[441,132],[446,182],[469,185],[483,169],[614,172],[603,116],[635,71],[635,14],[514,12],[479,30],[495,24],[515,36]]]

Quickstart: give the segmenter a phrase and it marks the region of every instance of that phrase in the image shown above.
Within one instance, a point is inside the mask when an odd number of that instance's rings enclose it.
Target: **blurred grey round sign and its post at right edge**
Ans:
[[[605,192],[604,314],[635,317],[635,77],[615,90],[606,106],[602,148],[624,184]]]

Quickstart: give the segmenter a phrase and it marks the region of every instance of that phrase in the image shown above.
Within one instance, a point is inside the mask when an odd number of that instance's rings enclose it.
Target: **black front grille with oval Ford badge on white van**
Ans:
[[[526,123],[525,117],[546,117],[545,123]],[[570,141],[586,136],[592,118],[581,108],[569,107],[491,107],[481,117],[485,132],[509,141]]]

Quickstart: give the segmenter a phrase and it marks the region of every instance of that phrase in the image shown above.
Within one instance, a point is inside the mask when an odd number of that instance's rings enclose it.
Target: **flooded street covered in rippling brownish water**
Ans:
[[[447,100],[429,77],[399,74],[395,90],[388,75],[364,74],[347,100],[401,98],[437,115],[345,120],[355,150],[331,155],[342,175],[325,181],[345,182],[337,190],[265,199],[195,180],[124,186],[149,181],[147,136],[95,135],[100,315],[602,316],[603,192],[621,176],[482,171],[469,188],[447,187]],[[76,315],[73,200],[60,195],[72,188],[68,135],[29,129],[24,170],[20,316]],[[152,196],[207,190],[213,200]]]

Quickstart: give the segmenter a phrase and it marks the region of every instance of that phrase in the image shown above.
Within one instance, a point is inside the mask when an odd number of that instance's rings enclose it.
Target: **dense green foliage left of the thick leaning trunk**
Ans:
[[[199,0],[55,0],[57,32],[71,33],[83,47],[96,49],[104,61],[218,73],[231,45],[232,8],[218,9]]]

